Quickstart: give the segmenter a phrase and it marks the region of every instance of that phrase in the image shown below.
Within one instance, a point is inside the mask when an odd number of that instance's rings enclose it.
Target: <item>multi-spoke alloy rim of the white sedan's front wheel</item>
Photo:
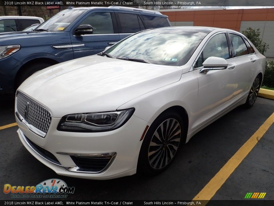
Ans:
[[[154,132],[148,148],[148,160],[154,169],[162,169],[174,157],[181,137],[176,119],[167,119]]]

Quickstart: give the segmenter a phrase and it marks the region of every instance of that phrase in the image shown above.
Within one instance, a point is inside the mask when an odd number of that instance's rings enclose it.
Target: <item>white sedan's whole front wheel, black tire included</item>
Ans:
[[[183,140],[183,128],[181,116],[173,110],[158,116],[143,140],[137,173],[155,175],[166,169],[176,156]]]

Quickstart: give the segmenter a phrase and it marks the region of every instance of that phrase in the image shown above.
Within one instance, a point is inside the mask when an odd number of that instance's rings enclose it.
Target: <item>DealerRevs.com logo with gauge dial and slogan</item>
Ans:
[[[48,179],[36,186],[4,185],[4,193],[11,193],[12,198],[67,198],[74,190],[60,179]]]

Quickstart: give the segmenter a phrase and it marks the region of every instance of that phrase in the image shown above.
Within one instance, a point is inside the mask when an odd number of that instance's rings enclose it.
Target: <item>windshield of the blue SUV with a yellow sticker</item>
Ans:
[[[86,12],[86,10],[82,9],[67,9],[61,11],[35,29],[48,29],[49,31],[64,31],[68,25],[75,21],[75,19],[77,19],[84,12]]]

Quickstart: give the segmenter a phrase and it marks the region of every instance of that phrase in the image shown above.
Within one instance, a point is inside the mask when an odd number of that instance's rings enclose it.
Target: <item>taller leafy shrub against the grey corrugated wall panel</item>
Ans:
[[[255,30],[251,27],[248,27],[242,33],[254,44],[254,46],[261,54],[263,54],[269,48],[269,45],[262,41],[260,38],[260,29]]]

